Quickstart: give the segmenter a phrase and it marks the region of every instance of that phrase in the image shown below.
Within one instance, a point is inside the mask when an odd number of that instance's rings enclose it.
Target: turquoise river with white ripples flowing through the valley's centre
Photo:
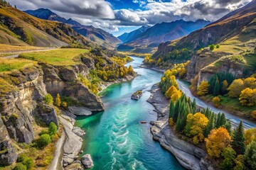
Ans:
[[[162,73],[140,68],[143,59],[133,59],[129,64],[139,76],[102,91],[104,112],[78,118],[76,125],[86,132],[83,154],[91,154],[94,170],[183,169],[170,152],[152,140],[150,133],[149,122],[156,120],[156,113],[146,99]],[[130,97],[137,90],[142,90],[143,96],[139,101],[132,101]],[[147,123],[141,124],[142,120]]]

